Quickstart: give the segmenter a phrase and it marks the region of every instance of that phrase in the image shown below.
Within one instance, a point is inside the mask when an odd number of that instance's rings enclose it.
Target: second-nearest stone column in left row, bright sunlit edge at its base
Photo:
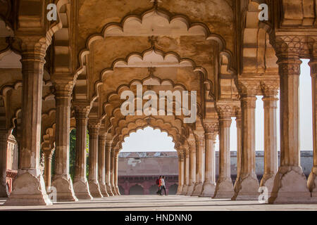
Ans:
[[[66,77],[66,76],[65,76]],[[55,174],[51,186],[56,188],[58,201],[77,201],[69,174],[70,100],[73,77],[66,79],[54,75],[56,88],[56,152]]]

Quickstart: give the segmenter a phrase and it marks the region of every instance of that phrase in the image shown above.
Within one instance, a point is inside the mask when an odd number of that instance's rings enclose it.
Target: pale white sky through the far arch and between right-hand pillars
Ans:
[[[311,98],[311,75],[309,60],[302,60],[301,76],[299,77],[299,134],[300,149],[313,150],[313,120],[312,120],[312,98]],[[262,96],[257,96],[256,100],[256,150],[263,150],[263,101]],[[280,149],[280,101],[277,110],[277,131],[278,131],[278,150]],[[159,129],[146,127],[133,132],[125,138],[122,144],[122,152],[142,152],[142,151],[173,151],[173,139],[166,132]],[[216,150],[219,150],[217,137]],[[237,129],[235,118],[232,118],[230,127],[230,150],[237,150]]]

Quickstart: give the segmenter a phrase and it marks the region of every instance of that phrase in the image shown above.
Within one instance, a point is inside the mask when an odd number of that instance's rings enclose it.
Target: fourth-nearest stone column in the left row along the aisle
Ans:
[[[92,197],[102,198],[98,181],[98,137],[100,123],[94,120],[89,120],[89,191]]]

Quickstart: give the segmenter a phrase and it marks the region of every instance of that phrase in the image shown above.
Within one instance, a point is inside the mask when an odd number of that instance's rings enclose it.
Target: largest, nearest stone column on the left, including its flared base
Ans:
[[[46,38],[21,39],[23,77],[21,167],[13,182],[13,191],[4,205],[51,205],[39,169]]]

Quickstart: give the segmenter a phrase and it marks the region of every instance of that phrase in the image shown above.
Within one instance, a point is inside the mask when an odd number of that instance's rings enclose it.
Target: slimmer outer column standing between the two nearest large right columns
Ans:
[[[263,107],[264,107],[264,174],[260,186],[268,188],[271,195],[275,174],[278,172],[278,141],[276,127],[276,109],[278,98],[279,80],[263,82]]]

